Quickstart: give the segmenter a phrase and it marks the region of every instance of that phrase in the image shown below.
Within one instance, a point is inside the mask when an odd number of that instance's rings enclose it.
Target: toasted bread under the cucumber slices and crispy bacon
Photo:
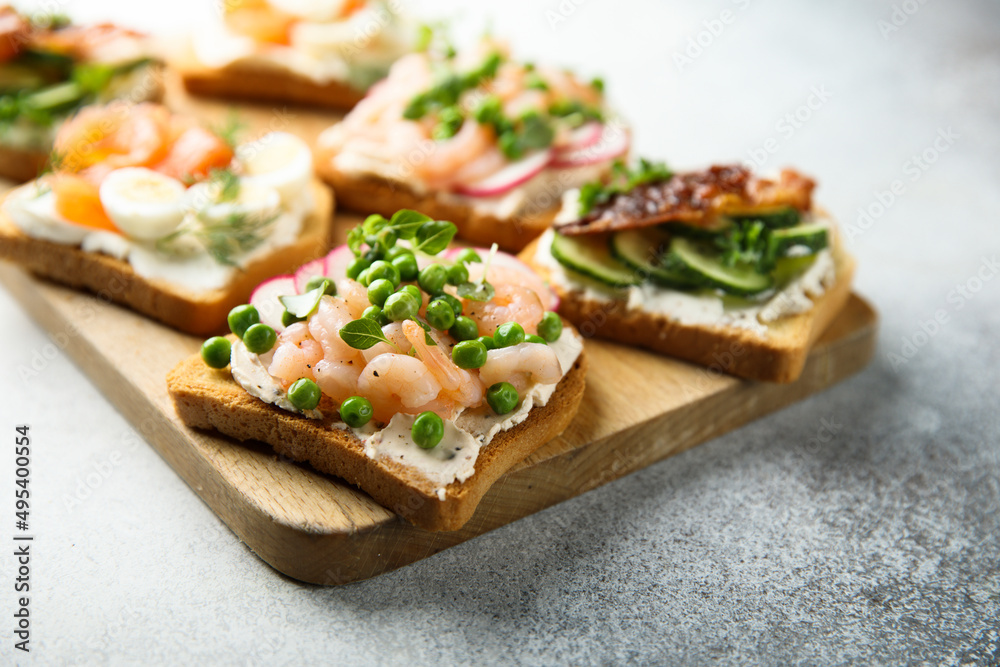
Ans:
[[[725,325],[681,324],[661,313],[630,310],[623,300],[588,298],[582,290],[567,290],[535,261],[537,242],[521,253],[521,259],[559,295],[559,314],[584,336],[597,336],[635,345],[707,366],[749,380],[793,382],[798,379],[813,343],[843,309],[851,293],[854,259],[841,247],[831,245],[836,280],[813,307],[797,315],[782,317],[767,325],[767,334]]]

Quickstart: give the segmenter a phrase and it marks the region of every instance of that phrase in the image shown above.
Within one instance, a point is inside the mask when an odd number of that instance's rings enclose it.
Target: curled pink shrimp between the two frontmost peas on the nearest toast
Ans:
[[[358,393],[372,403],[376,421],[388,422],[398,412],[426,410],[450,418],[454,402],[442,399],[441,383],[422,361],[407,354],[380,354],[358,378]]]

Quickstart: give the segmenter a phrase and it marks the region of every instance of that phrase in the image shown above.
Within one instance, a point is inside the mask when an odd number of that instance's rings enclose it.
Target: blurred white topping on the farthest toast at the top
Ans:
[[[229,65],[284,70],[318,84],[338,81],[359,90],[385,76],[389,66],[412,49],[407,24],[385,3],[372,3],[341,21],[300,21],[289,46],[261,48],[225,26],[195,33],[191,46],[206,67]]]

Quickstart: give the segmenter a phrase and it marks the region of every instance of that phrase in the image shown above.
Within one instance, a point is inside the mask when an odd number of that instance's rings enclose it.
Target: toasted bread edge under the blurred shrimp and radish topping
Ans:
[[[454,197],[435,192],[421,194],[379,176],[345,173],[333,166],[332,158],[329,153],[317,151],[316,173],[333,186],[337,201],[344,208],[386,217],[400,209],[414,209],[436,220],[454,222],[459,237],[487,248],[496,243],[503,250],[521,250],[549,228],[558,212],[559,200],[555,198],[553,208],[538,214],[498,218]]]

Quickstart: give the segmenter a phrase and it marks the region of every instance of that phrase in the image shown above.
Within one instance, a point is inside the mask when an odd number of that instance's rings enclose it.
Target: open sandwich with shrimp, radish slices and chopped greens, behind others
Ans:
[[[606,177],[628,152],[603,88],[515,62],[492,39],[457,54],[434,44],[401,58],[320,137],[316,170],[348,208],[412,208],[470,241],[519,250],[564,192]]]

